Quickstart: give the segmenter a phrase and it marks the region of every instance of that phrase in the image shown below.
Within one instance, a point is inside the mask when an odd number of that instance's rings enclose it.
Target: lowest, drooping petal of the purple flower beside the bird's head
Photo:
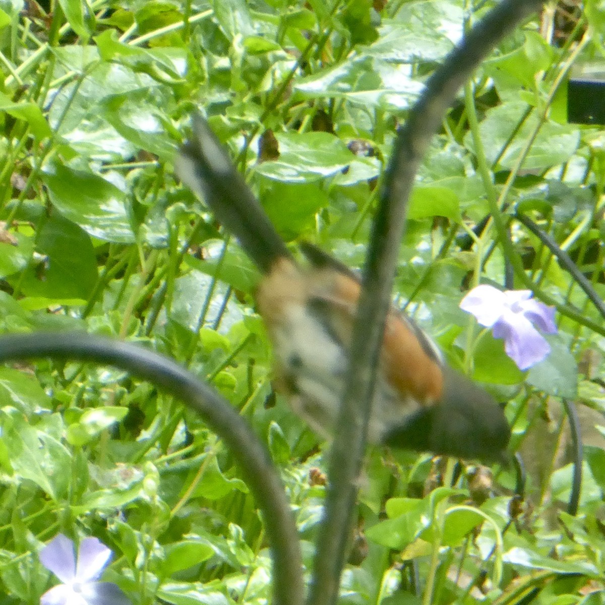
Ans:
[[[520,370],[527,370],[551,352],[551,345],[520,313],[506,313],[492,333],[495,338],[504,338],[506,355]]]

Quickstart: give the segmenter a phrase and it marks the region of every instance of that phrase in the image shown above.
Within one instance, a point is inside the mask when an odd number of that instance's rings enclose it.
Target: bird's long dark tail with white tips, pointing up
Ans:
[[[208,204],[263,273],[278,258],[290,257],[226,149],[199,115],[194,116],[193,137],[181,148],[175,168],[180,180]]]

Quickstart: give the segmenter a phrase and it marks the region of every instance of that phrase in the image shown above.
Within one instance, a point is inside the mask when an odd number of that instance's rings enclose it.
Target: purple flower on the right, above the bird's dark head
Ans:
[[[546,334],[557,333],[554,307],[531,296],[531,290],[500,292],[482,284],[460,302],[460,309],[473,313],[481,325],[492,328],[494,338],[504,339],[506,355],[520,370],[527,370],[551,352],[551,345],[535,327]]]

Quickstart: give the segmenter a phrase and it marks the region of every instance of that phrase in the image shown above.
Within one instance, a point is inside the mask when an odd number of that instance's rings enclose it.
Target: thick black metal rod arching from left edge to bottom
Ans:
[[[267,449],[235,408],[177,362],[129,342],[83,332],[0,337],[0,362],[42,357],[114,365],[162,388],[200,413],[231,448],[263,511],[273,559],[273,603],[302,605],[302,558],[290,504]]]

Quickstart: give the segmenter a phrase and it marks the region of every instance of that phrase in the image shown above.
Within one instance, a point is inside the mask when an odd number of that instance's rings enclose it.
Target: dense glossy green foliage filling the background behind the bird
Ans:
[[[287,241],[359,267],[396,126],[491,2],[381,4],[0,0],[2,331],[128,339],[211,382],[280,466],[309,565],[327,445],[273,393],[258,273],[172,161],[200,110]],[[540,223],[605,297],[603,134],[566,123],[561,85],[604,50],[605,13],[584,10],[567,30],[550,10],[528,22],[460,94],[420,169],[396,277],[450,363],[507,401],[525,498],[512,468],[486,479],[374,448],[343,602],[605,603],[605,323],[514,220]],[[490,212],[509,227],[465,241]],[[514,287],[560,311],[527,373],[458,308],[474,284],[505,285],[505,258]],[[586,437],[575,517],[561,397]],[[110,546],[105,579],[133,603],[270,595],[255,503],[195,414],[111,368],[0,367],[0,603],[37,604],[56,583],[37,553],[59,532]]]

